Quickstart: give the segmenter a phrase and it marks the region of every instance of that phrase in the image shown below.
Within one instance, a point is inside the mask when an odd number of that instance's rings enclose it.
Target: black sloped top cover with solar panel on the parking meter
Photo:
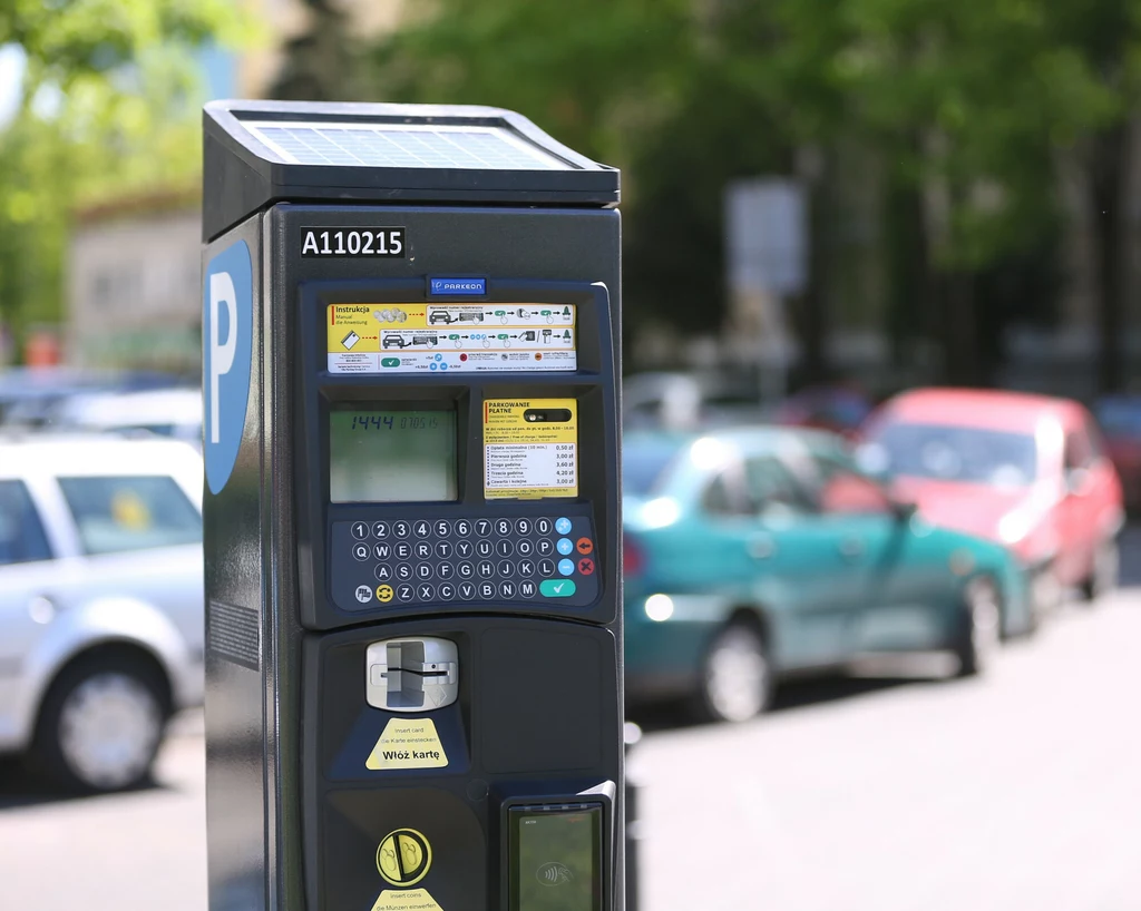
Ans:
[[[278,202],[618,202],[617,170],[502,108],[211,101],[203,131],[205,241]]]

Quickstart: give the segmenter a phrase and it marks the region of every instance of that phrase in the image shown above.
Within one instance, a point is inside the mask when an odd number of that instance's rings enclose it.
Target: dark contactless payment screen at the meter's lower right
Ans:
[[[602,807],[509,813],[511,911],[601,911]]]

